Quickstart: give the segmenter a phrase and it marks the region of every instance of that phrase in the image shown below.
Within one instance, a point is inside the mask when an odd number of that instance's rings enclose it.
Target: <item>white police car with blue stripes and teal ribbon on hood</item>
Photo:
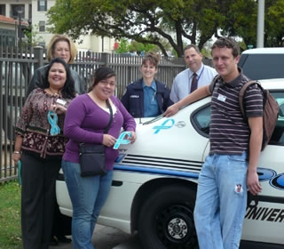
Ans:
[[[283,248],[284,79],[261,83],[278,101],[280,116],[259,160],[263,191],[248,202],[241,248]],[[209,101],[210,97],[194,102],[170,118],[138,124],[137,141],[119,148],[100,224],[138,231],[147,249],[198,247],[193,207],[201,165],[209,153]],[[57,197],[60,211],[72,215],[62,175]]]

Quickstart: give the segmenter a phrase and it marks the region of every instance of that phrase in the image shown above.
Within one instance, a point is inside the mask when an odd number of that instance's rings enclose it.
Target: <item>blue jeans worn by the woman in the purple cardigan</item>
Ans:
[[[62,170],[73,206],[73,248],[92,249],[91,236],[106,202],[114,172],[111,170],[102,176],[81,177],[80,165],[64,160]]]

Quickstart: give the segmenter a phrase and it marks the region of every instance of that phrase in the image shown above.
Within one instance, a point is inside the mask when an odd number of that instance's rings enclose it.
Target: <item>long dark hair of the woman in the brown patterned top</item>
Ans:
[[[48,88],[50,87],[50,83],[48,81],[48,75],[50,73],[51,67],[54,63],[60,63],[64,66],[66,70],[66,82],[61,90],[62,97],[65,99],[73,99],[75,98],[75,83],[74,79],[71,76],[70,68],[67,66],[65,60],[55,57],[51,60],[50,64],[47,66],[47,71],[45,74],[45,80],[43,81],[43,84],[41,85],[41,88]]]

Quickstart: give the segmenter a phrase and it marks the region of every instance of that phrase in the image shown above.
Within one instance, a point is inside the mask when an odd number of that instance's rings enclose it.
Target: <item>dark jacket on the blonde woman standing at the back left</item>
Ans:
[[[45,74],[47,72],[47,67],[48,65],[45,65],[41,68],[37,68],[34,72],[34,76],[32,77],[30,83],[28,84],[28,91],[26,93],[26,99],[28,97],[28,94],[32,92],[36,87],[39,87],[41,84],[43,84],[43,81],[45,80]],[[82,78],[78,75],[78,73],[71,69],[71,76],[74,79],[74,84],[75,84],[75,92],[82,94],[84,93],[83,89],[83,80]]]

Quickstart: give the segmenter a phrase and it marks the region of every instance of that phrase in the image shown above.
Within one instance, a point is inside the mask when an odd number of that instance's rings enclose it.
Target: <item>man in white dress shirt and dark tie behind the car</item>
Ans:
[[[197,87],[210,84],[217,75],[214,68],[203,65],[202,54],[195,44],[185,46],[185,63],[188,68],[175,77],[171,87],[170,100],[174,103],[184,99]]]

